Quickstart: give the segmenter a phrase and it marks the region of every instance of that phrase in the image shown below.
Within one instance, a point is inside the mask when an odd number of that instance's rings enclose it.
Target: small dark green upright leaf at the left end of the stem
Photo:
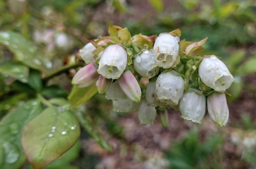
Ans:
[[[41,73],[37,70],[30,69],[28,85],[33,87],[36,91],[40,91],[43,87]]]

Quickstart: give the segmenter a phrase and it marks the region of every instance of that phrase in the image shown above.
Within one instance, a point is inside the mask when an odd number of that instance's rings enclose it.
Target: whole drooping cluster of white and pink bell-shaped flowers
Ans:
[[[207,104],[213,122],[226,125],[225,94],[234,78],[219,57],[200,56],[207,38],[194,43],[180,40],[179,29],[158,37],[131,37],[127,28],[110,26],[109,33],[81,49],[87,66],[72,84],[97,85],[98,93],[112,100],[114,111],[138,111],[141,124],[153,124],[157,115],[168,126],[168,108],[180,110],[185,120],[201,123]]]

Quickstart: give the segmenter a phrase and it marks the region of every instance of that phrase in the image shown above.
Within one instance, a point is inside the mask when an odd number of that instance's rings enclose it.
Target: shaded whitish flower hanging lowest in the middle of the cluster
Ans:
[[[155,119],[155,114],[157,110],[153,106],[148,106],[145,99],[140,101],[140,106],[138,110],[138,116],[140,124],[153,124]]]

